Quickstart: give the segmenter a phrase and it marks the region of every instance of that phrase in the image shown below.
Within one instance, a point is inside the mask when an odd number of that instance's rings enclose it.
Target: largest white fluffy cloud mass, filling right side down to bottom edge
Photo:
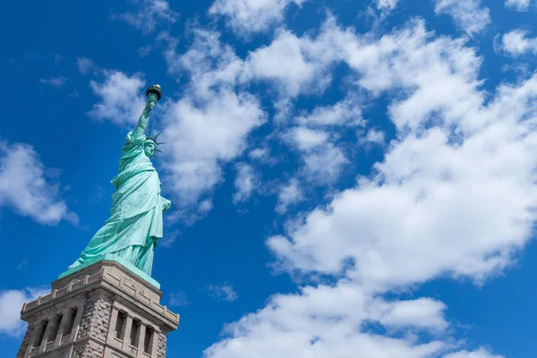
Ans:
[[[530,240],[537,75],[487,93],[475,50],[422,21],[378,40],[328,32],[357,85],[399,94],[388,106],[396,140],[371,175],[267,240],[280,268],[334,284],[272,296],[205,356],[499,358],[454,343],[443,303],[384,297],[435,277],[482,282]]]

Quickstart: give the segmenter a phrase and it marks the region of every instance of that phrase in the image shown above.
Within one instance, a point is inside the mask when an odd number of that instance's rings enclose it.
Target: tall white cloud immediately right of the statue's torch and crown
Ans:
[[[166,55],[170,72],[190,76],[184,97],[166,104],[163,133],[166,185],[185,208],[220,182],[221,165],[242,154],[250,132],[266,121],[259,99],[235,89],[242,61],[233,49],[214,32],[195,37],[185,54]]]

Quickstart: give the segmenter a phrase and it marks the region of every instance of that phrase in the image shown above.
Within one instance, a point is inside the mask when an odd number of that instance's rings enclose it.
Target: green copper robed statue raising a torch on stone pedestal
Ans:
[[[160,86],[149,87],[146,95],[146,107],[134,131],[127,134],[119,173],[112,179],[116,192],[110,217],[68,272],[112,255],[151,275],[153,251],[162,238],[162,213],[170,209],[171,201],[160,196],[158,173],[150,160],[163,143],[157,142],[158,135],[151,138],[150,131],[145,135],[149,114],[161,97]]]

